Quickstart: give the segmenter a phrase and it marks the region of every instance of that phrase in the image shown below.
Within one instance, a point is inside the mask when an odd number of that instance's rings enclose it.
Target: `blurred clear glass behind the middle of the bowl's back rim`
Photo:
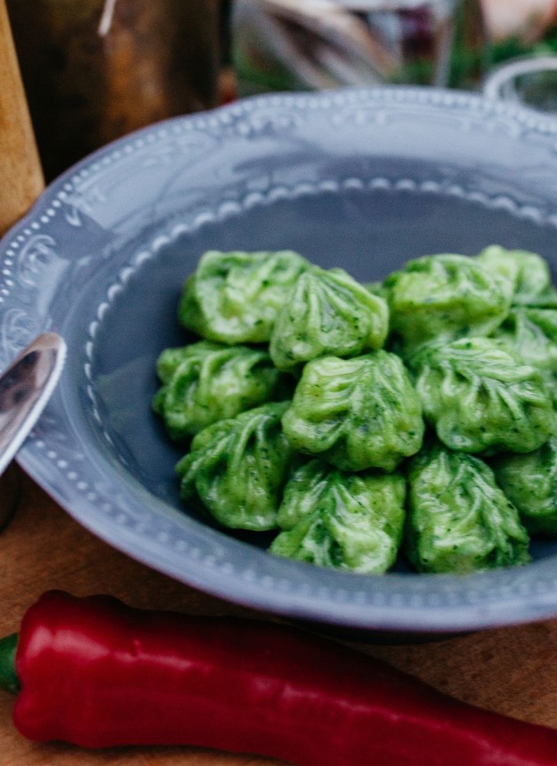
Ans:
[[[479,0],[235,0],[241,94],[390,83],[476,87]]]

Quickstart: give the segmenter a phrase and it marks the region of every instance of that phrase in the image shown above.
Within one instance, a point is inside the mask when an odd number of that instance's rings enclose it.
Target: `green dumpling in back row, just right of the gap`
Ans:
[[[408,353],[433,339],[490,335],[505,319],[512,293],[477,259],[453,254],[411,260],[384,286],[391,329]]]

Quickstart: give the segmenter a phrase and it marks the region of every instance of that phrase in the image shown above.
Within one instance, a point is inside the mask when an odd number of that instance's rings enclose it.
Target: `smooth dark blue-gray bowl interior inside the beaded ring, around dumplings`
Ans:
[[[156,241],[158,234],[151,234]],[[157,247],[108,303],[94,336],[90,396],[99,414],[81,408],[83,427],[101,457],[123,480],[139,483],[171,515],[195,516],[179,500],[174,466],[185,452],[169,440],[150,409],[162,349],[193,338],[176,321],[182,283],[208,249],[293,248],[323,267],[340,266],[363,282],[380,280],[411,257],[439,252],[475,254],[488,244],[535,250],[557,266],[555,228],[494,209],[471,198],[405,189],[337,189],[266,201],[178,234]],[[149,246],[149,242],[126,247]],[[130,251],[131,251],[130,250]],[[91,308],[106,296],[103,270],[87,286]],[[108,288],[110,291],[110,286]],[[80,302],[80,312],[84,310]],[[93,316],[93,312],[91,312]],[[68,322],[68,332],[75,327]],[[76,391],[83,391],[77,386]],[[211,524],[210,520],[205,523]],[[231,533],[258,547],[272,535]],[[534,541],[534,558],[557,552],[557,542]],[[398,562],[396,571],[408,571]]]

